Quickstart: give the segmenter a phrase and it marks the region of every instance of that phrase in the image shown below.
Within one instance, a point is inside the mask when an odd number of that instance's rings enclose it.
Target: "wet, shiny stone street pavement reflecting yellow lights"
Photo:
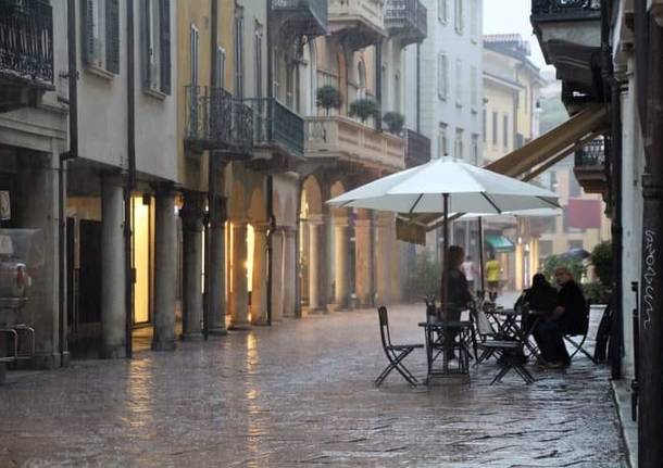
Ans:
[[[393,340],[422,342],[422,315],[392,308]],[[9,372],[0,467],[626,466],[605,367],[576,357],[566,371],[531,366],[530,387],[513,374],[489,387],[488,363],[470,385],[392,375],[376,389],[378,340],[374,311],[335,313],[132,362]]]

